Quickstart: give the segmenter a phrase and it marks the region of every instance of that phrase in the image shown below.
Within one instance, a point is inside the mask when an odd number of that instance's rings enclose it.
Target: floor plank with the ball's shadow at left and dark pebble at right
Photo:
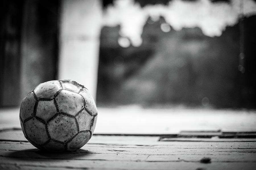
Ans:
[[[199,162],[202,158],[211,158],[211,162],[256,162],[256,155],[141,155],[120,152],[99,153],[44,153],[39,151],[0,150],[0,156],[9,158],[33,158],[49,160],[106,160],[106,161],[141,161],[141,162]]]

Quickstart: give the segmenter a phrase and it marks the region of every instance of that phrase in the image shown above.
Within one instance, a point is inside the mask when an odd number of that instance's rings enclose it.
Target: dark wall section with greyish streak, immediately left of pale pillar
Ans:
[[[26,0],[21,41],[21,98],[56,79],[59,1]]]

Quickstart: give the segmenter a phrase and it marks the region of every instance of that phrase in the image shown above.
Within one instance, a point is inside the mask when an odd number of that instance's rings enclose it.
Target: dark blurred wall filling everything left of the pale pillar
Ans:
[[[56,78],[59,1],[1,1],[0,107]]]

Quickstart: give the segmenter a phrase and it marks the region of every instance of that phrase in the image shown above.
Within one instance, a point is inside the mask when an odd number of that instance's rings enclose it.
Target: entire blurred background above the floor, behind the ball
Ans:
[[[97,106],[256,108],[255,0],[3,0],[0,107],[73,79]]]

